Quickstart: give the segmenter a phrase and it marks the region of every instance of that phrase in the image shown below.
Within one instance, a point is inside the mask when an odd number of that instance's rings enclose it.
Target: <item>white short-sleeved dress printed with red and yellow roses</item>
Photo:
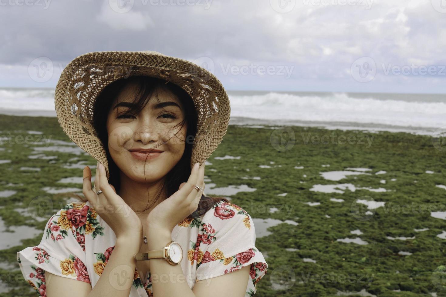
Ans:
[[[173,228],[171,237],[182,247],[180,265],[190,289],[197,281],[250,265],[248,297],[256,293],[257,282],[268,270],[255,246],[251,216],[233,203],[220,200],[201,217],[186,218]],[[17,252],[17,261],[25,280],[39,297],[46,297],[45,271],[93,288],[115,243],[115,233],[89,202],[71,202],[48,220],[40,244]],[[153,296],[150,272],[142,281],[135,269],[129,297],[147,296]]]

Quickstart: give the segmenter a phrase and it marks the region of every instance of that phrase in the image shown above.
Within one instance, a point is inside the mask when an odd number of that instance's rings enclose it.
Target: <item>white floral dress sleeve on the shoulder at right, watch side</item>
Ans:
[[[244,209],[223,200],[205,213],[198,232],[196,281],[231,273],[250,265],[245,296],[256,293],[256,284],[266,274],[268,264],[256,248],[256,231]]]

